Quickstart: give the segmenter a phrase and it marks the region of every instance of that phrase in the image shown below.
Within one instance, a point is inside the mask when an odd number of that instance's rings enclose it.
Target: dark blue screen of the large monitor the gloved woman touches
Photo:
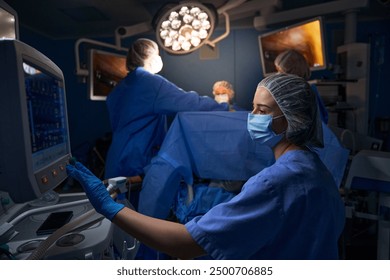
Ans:
[[[33,169],[37,171],[68,151],[64,83],[23,63]]]

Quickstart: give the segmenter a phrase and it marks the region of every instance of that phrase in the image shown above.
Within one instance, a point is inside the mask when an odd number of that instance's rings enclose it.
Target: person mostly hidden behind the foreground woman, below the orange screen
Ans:
[[[276,70],[279,73],[295,74],[299,77],[308,80],[311,75],[310,66],[307,63],[306,58],[298,51],[288,49],[280,53],[274,61]],[[317,104],[320,109],[321,120],[328,123],[328,110],[326,110],[324,102],[322,102],[321,96],[317,90],[317,87],[312,84],[311,89],[316,95]]]

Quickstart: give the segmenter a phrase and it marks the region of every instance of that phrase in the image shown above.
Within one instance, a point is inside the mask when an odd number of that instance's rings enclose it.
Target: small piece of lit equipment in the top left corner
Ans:
[[[18,14],[3,0],[0,0],[0,40],[19,38]]]

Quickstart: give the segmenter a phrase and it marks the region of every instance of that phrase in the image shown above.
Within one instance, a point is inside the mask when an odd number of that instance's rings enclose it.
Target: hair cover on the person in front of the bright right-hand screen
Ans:
[[[308,80],[310,78],[310,66],[306,58],[296,50],[286,50],[275,58],[275,66],[278,71],[286,74],[295,74]]]

